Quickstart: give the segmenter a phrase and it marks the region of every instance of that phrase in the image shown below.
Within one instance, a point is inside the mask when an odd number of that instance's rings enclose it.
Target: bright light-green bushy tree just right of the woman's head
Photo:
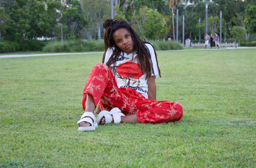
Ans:
[[[163,38],[169,29],[165,26],[163,16],[146,6],[142,6],[139,12],[133,12],[131,23],[137,34],[145,41],[147,38],[151,40]]]

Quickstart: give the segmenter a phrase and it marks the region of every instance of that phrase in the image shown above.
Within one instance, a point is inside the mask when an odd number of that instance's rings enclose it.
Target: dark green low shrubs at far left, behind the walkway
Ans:
[[[42,51],[47,41],[38,41],[29,39],[27,41],[20,40],[18,42],[10,42],[0,40],[0,53],[10,53],[17,51]]]

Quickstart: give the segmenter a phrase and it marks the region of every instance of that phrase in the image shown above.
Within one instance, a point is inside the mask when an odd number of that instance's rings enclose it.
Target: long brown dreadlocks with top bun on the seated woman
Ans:
[[[120,28],[125,28],[131,34],[133,45],[134,45],[133,49],[136,50],[136,52],[137,52],[138,64],[140,65],[142,72],[144,74],[146,74],[146,78],[151,76],[152,71],[154,73],[150,51],[145,46],[145,44],[150,44],[150,43],[142,41],[140,39],[140,37],[137,35],[137,33],[134,31],[132,26],[127,23],[127,21],[125,21],[121,18],[106,19],[105,22],[103,23],[103,28],[106,30],[105,30],[104,37],[103,37],[104,44],[105,44],[105,53],[103,55],[102,62],[104,62],[104,60],[105,60],[105,55],[106,55],[106,51],[108,50],[108,48],[109,47],[112,48],[112,46],[115,46],[115,42],[113,39],[114,32]],[[156,56],[155,49],[154,49],[154,52],[155,52],[155,56]],[[121,50],[118,47],[115,47],[115,49],[113,50],[113,54],[109,58],[106,65],[109,67],[111,64],[115,63],[120,54],[121,54]],[[157,58],[156,58],[156,63],[157,63],[158,71],[159,71],[159,76],[161,77],[161,72],[158,67]],[[114,69],[115,68],[113,68],[113,74],[115,74]]]

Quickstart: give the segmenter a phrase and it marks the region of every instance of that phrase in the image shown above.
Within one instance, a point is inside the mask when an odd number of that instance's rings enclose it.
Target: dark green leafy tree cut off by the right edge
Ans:
[[[245,19],[247,31],[249,33],[256,33],[256,5],[248,4],[245,10]]]

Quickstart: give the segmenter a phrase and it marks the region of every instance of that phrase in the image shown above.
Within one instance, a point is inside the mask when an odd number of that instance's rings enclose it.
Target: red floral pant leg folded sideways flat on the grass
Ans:
[[[182,118],[183,108],[178,102],[146,99],[132,88],[120,90],[124,97],[130,99],[129,108],[121,110],[125,115],[136,114],[139,121],[152,124],[175,122]]]

